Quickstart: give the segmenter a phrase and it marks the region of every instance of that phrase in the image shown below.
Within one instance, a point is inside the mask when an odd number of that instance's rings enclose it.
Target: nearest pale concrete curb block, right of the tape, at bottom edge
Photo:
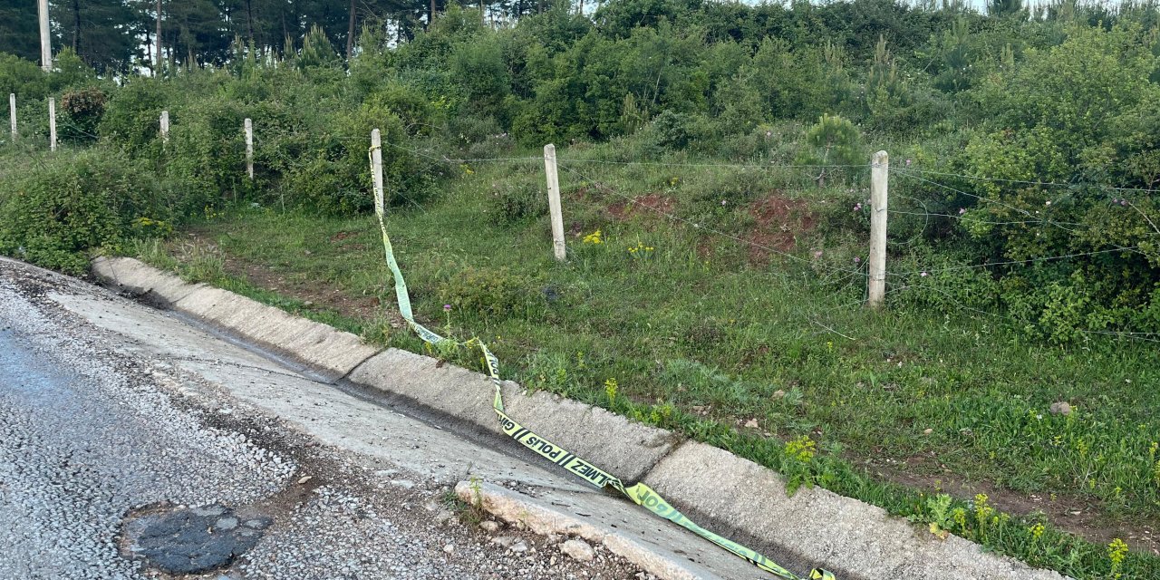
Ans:
[[[885,509],[827,490],[802,488],[790,496],[776,472],[703,443],[681,445],[645,484],[679,509],[727,522],[724,530],[784,550],[803,568],[825,563],[843,580],[1064,578],[986,553],[958,536],[940,541]]]

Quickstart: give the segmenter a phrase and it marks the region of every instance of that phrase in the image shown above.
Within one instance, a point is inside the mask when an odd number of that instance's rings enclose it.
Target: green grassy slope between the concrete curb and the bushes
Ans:
[[[387,224],[421,321],[487,341],[505,377],[530,389],[681,432],[795,484],[935,522],[1076,578],[1111,578],[1105,542],[1060,532],[1044,514],[1002,515],[994,509],[1003,495],[1082,506],[1124,537],[1160,520],[1154,343],[1109,338],[1047,346],[1001,316],[933,310],[905,291],[892,291],[887,309],[870,311],[861,305],[864,275],[843,271],[864,256],[856,231],[802,232],[792,251],[798,259],[773,254],[768,261],[708,231],[752,239],[755,218],[745,208],[774,191],[802,200],[795,203],[819,218],[863,195],[819,190],[802,172],[571,167],[615,191],[668,197],[669,211],[688,223],[647,210],[621,217],[615,205],[623,198],[561,169],[565,229],[577,233],[568,237],[570,260],[557,263],[545,217],[496,215],[496,191],[512,183],[536,190],[542,167],[472,167],[437,201],[400,205]],[[597,229],[602,244],[582,241]],[[247,209],[198,230],[232,258],[393,304],[372,217]],[[319,314],[224,274],[212,259],[166,263],[172,259],[158,249],[145,253],[187,276],[425,351],[383,319]],[[452,305],[447,316],[444,304]],[[474,353],[452,358],[479,365]],[[1074,411],[1052,414],[1054,401]],[[786,452],[786,442],[800,437],[817,442],[817,455]],[[929,485],[904,487],[890,483],[891,474]],[[992,498],[958,498],[943,509],[933,496],[938,481],[983,485]],[[1047,523],[1041,535],[1032,532],[1037,522]],[[1160,559],[1131,552],[1119,572],[1158,578]]]

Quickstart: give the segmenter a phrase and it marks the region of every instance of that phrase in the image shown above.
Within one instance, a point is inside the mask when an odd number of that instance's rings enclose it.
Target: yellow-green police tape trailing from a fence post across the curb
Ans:
[[[391,275],[394,277],[394,295],[399,303],[399,313],[407,321],[419,338],[421,338],[428,345],[437,345],[445,340],[451,340],[441,336],[437,333],[432,332],[423,325],[415,321],[414,314],[411,311],[411,295],[407,292],[407,283],[403,280],[403,271],[399,270],[399,264],[394,260],[394,252],[391,248],[391,238],[386,234],[386,224],[384,222],[384,209],[383,209],[383,196],[376,189],[375,191],[375,215],[378,217],[378,227],[383,232],[383,249],[386,253],[386,266],[391,269]],[[821,568],[814,568],[810,571],[809,579],[802,579],[800,577],[793,574],[792,572],[781,567],[774,560],[766,558],[764,556],[741,545],[737,542],[730,541],[717,534],[713,534],[686,517],[675,507],[670,506],[659,493],[653,491],[645,484],[636,484],[631,487],[625,487],[624,483],[617,477],[606,472],[604,470],[586,462],[573,454],[570,454],[564,448],[536,435],[527,427],[521,426],[515,422],[507,413],[503,411],[503,391],[501,389],[500,382],[500,362],[495,358],[495,355],[487,348],[479,339],[471,339],[463,343],[464,346],[477,346],[479,350],[484,354],[484,360],[487,362],[487,375],[491,377],[492,383],[495,385],[495,399],[493,401],[493,407],[495,414],[499,416],[500,428],[503,429],[509,437],[519,441],[523,447],[531,449],[541,457],[564,467],[565,470],[575,473],[581,479],[588,481],[589,484],[604,488],[614,487],[636,505],[644,507],[645,509],[652,512],[653,514],[664,517],[694,534],[733,552],[735,556],[749,560],[755,566],[766,572],[770,572],[784,580],[835,580],[834,574]]]

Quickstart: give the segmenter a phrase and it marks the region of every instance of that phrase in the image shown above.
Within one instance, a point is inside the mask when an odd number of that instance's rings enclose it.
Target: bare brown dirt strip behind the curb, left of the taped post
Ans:
[[[339,232],[334,235],[334,241],[342,242],[342,240],[351,235],[354,233]],[[206,232],[189,232],[186,244],[194,244],[219,252],[223,259],[223,269],[226,274],[246,280],[255,287],[302,300],[310,310],[331,310],[360,320],[374,320],[376,317],[385,313],[380,307],[380,300],[377,296],[350,296],[329,282],[309,278],[288,278],[285,275],[267,266],[222,252]],[[343,248],[354,249],[354,246],[361,246],[361,244],[343,244]],[[392,326],[393,322],[392,320]]]

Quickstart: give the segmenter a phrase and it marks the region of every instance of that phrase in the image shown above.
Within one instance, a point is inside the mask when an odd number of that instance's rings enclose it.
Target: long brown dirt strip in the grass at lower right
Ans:
[[[931,473],[943,469],[937,458],[915,456],[904,462],[873,462],[864,465],[877,477],[926,491],[928,494],[945,493],[970,500],[985,493],[987,502],[1012,516],[1024,516],[1042,512],[1051,524],[1082,537],[1089,542],[1107,545],[1121,538],[1138,552],[1160,556],[1160,522],[1124,517],[1112,520],[1101,514],[1100,506],[1082,498],[1046,494],[1024,494],[1000,490],[985,481],[966,481],[955,473]]]

